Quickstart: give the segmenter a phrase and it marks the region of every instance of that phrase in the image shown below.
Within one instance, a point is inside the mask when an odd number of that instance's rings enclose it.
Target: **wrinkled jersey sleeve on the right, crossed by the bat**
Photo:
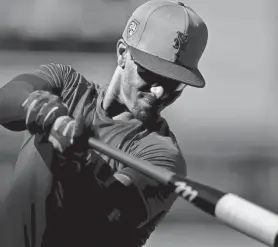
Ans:
[[[131,154],[154,166],[186,175],[186,163],[174,138],[151,134],[136,143]],[[165,215],[177,199],[172,187],[158,183],[132,168],[125,167],[114,176],[130,181],[137,188],[146,212],[145,221],[141,225],[148,224],[159,215]]]

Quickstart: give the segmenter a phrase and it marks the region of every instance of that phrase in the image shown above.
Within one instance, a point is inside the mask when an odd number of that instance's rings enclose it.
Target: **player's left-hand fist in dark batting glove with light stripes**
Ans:
[[[67,106],[58,96],[41,90],[32,92],[22,107],[26,127],[32,134],[49,133],[55,120],[68,114]]]

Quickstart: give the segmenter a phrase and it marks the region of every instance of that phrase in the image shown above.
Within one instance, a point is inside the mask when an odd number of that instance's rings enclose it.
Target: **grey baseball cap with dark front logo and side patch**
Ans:
[[[139,6],[123,32],[133,60],[169,79],[202,88],[198,69],[208,30],[194,10],[174,0],[151,0]]]

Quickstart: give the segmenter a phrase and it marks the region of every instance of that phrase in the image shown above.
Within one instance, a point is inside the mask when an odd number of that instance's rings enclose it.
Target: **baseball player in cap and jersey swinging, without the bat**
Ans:
[[[99,140],[185,175],[161,111],[202,88],[204,21],[183,3],[139,6],[100,87],[64,64],[41,65],[0,89],[0,124],[25,131],[4,205],[3,247],[143,246],[177,196],[171,186],[88,146]]]

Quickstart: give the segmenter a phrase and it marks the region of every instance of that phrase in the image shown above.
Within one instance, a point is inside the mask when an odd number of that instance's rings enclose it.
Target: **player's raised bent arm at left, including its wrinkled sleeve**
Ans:
[[[20,74],[0,88],[0,124],[14,131],[26,129],[26,109],[22,104],[28,97],[30,101],[40,98],[40,104],[34,109],[38,110],[44,103],[51,101],[51,106],[61,106],[61,114],[64,114],[62,103],[69,105],[76,87],[85,88],[87,84],[86,79],[68,65],[47,64],[40,66],[34,73]]]

